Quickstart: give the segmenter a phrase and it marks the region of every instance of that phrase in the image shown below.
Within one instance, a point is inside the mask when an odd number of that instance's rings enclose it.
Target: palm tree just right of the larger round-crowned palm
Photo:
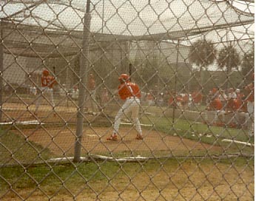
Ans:
[[[220,52],[218,52],[218,67],[220,69],[226,68],[226,75],[232,72],[232,69],[238,69],[238,64],[240,63],[240,56],[235,49],[235,47],[230,44],[227,47],[223,47]],[[229,88],[229,81],[227,81],[227,88]]]

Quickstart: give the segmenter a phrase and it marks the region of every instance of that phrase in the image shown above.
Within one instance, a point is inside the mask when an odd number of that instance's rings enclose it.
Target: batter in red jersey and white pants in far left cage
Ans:
[[[53,108],[55,107],[55,103],[53,101],[53,85],[56,83],[55,78],[50,75],[50,72],[47,69],[44,69],[41,75],[41,94],[36,101],[36,111],[34,115],[38,115],[38,108],[41,104],[41,98],[48,97],[49,99],[46,98],[47,101],[50,101]]]

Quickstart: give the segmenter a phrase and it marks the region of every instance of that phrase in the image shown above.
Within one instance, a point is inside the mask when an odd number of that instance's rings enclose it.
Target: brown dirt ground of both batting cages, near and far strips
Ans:
[[[57,115],[54,117],[50,106],[41,106],[38,117],[31,115],[33,105],[27,109],[24,104],[4,103],[4,117],[13,117],[16,121],[38,120],[38,123],[52,123],[53,126],[34,126],[33,129],[22,129],[18,134],[28,140],[36,142],[44,148],[50,149],[55,156],[73,156],[75,144],[75,120],[77,109],[75,107],[58,106]],[[93,122],[106,117],[88,115],[86,120]],[[9,120],[7,119],[7,122]],[[111,121],[111,120],[110,120]],[[67,126],[55,126],[60,123]],[[69,126],[72,123],[73,126]],[[110,123],[110,122],[109,122]],[[145,129],[146,128],[146,129]],[[82,154],[110,154],[122,153],[131,156],[132,154],[146,154],[146,156],[191,156],[206,152],[220,153],[223,151],[219,146],[187,140],[178,136],[166,135],[152,130],[152,127],[143,126],[144,140],[135,140],[136,131],[132,126],[121,125],[120,136],[117,141],[107,141],[107,137],[112,133],[112,126],[93,127],[85,126],[82,139]],[[137,156],[137,155],[135,155]],[[54,157],[54,156],[53,156]]]

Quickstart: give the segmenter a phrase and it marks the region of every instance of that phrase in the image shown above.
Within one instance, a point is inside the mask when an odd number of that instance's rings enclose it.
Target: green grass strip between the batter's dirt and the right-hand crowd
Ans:
[[[245,146],[243,144],[226,143],[223,139],[238,140],[254,145],[255,137],[249,137],[248,131],[243,129],[232,129],[229,127],[209,126],[204,123],[195,123],[189,120],[175,119],[170,117],[144,117],[142,122],[152,124],[153,128],[166,134],[177,134],[190,140],[201,141],[212,145],[223,146],[231,152],[240,152],[244,154],[254,154],[254,146]]]

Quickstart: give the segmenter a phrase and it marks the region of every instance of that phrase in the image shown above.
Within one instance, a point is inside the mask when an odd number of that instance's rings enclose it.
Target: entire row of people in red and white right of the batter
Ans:
[[[161,106],[161,95],[151,91],[146,93],[145,100],[149,106]],[[254,130],[254,74],[252,83],[243,89],[229,88],[226,90],[214,88],[208,95],[197,89],[191,93],[166,92],[162,98],[165,106],[182,110],[203,111],[205,108],[204,120],[206,123],[223,126],[228,124],[231,127],[249,129],[250,135]],[[214,119],[210,119],[212,112]],[[225,119],[224,119],[225,118]]]

